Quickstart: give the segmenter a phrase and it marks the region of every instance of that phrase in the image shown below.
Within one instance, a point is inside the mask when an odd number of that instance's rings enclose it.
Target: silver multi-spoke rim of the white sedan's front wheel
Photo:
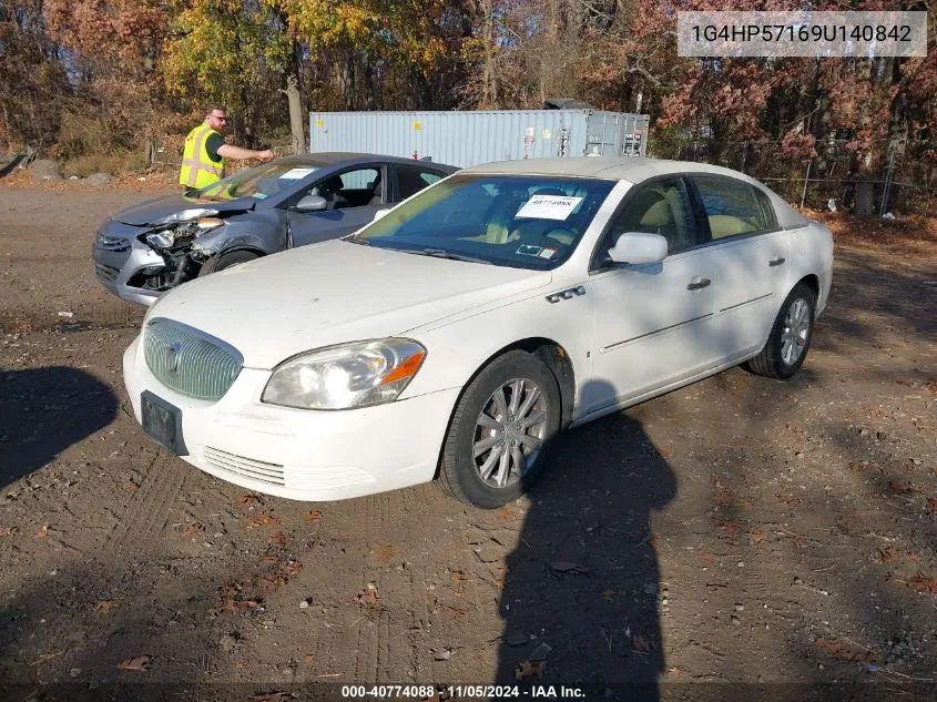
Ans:
[[[543,447],[548,409],[547,396],[528,378],[495,390],[475,424],[472,457],[482,482],[505,488],[521,479]]]

